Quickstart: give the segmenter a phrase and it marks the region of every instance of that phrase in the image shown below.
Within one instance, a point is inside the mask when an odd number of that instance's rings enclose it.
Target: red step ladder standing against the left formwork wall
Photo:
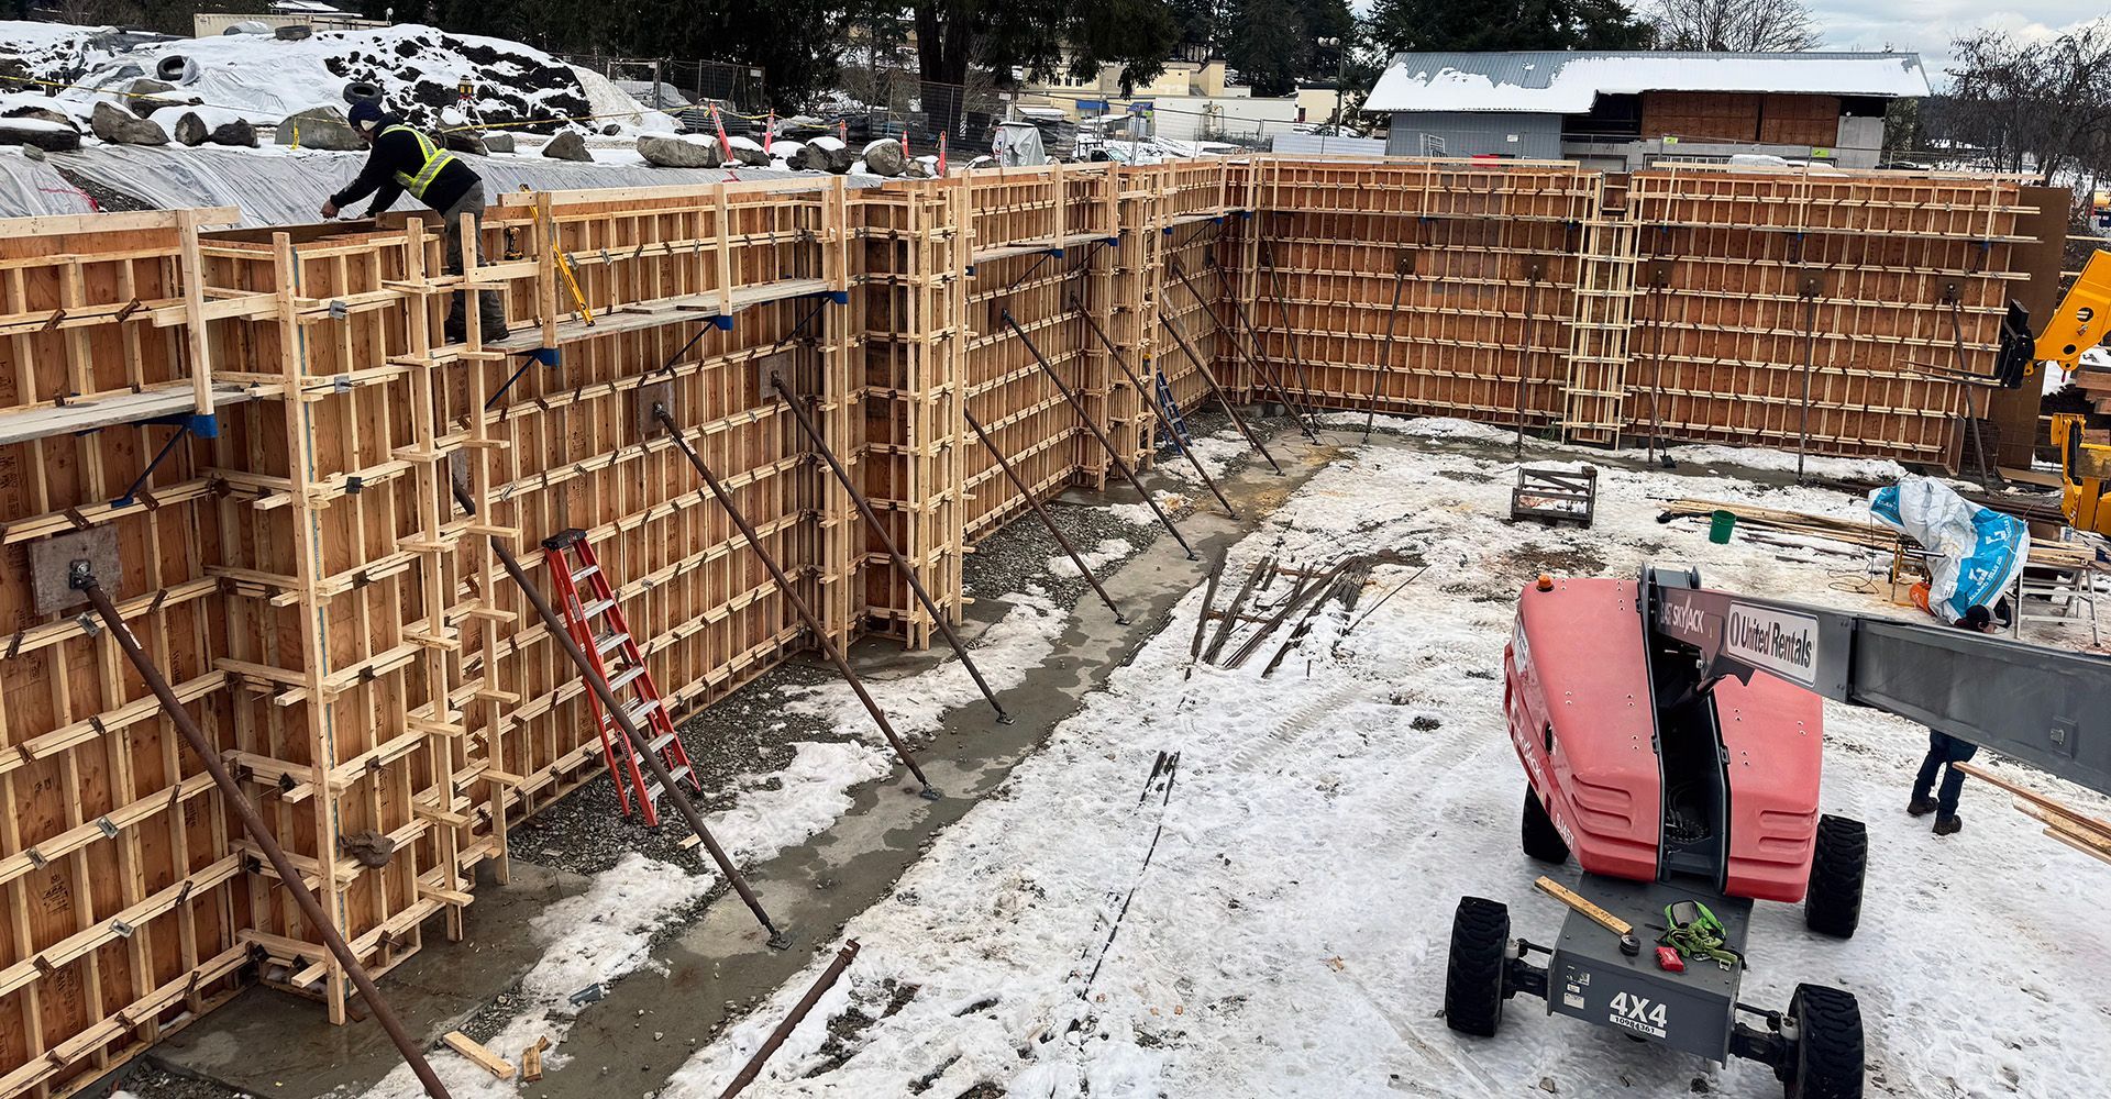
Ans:
[[[682,736],[673,732],[673,719],[667,717],[667,702],[661,700],[659,686],[646,671],[644,654],[638,652],[638,639],[631,637],[631,626],[623,620],[623,608],[616,605],[608,574],[593,557],[587,532],[574,527],[545,538],[543,561],[549,565],[551,586],[557,589],[564,626],[572,633],[572,641],[585,650],[593,673],[608,683],[610,694],[625,702],[623,713],[631,717],[638,732],[646,734],[673,780],[686,780],[688,789],[703,789],[695,768],[688,766],[688,753],[682,751]],[[585,595],[581,584],[585,584]],[[602,757],[608,761],[608,774],[616,780],[623,816],[631,814],[631,802],[635,802],[646,814],[646,825],[659,825],[659,778],[652,778],[642,766],[644,757],[614,717],[602,711],[600,694],[587,690],[587,705],[602,732]]]

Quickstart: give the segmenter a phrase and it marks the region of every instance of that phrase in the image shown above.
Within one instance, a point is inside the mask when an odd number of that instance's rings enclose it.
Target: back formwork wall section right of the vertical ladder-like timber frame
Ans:
[[[1794,447],[1809,371],[1813,451],[1955,466],[1942,371],[1991,367],[2033,213],[1999,177],[1634,173],[1628,430],[1655,403],[1674,439]]]

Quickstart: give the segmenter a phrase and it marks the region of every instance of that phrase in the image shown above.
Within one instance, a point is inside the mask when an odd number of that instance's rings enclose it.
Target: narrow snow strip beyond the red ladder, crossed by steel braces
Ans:
[[[1070,620],[1070,612],[1039,591],[1007,595],[1003,603],[1011,610],[984,631],[980,641],[971,643],[975,667],[990,681],[990,690],[1011,690],[1024,683],[1026,673],[1047,658]],[[904,736],[935,732],[946,711],[982,698],[975,679],[958,660],[946,660],[904,679],[866,679],[866,690],[887,711],[887,721],[895,726],[895,732]],[[838,734],[876,745],[872,751],[887,751],[872,726],[872,715],[866,713],[849,683],[796,688],[783,709],[785,713],[825,717]]]

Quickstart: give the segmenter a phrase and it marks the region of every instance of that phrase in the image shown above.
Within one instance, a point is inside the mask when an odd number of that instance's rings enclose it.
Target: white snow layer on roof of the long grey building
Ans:
[[[1587,114],[1644,91],[1929,95],[1919,53],[1395,53],[1364,110]]]

